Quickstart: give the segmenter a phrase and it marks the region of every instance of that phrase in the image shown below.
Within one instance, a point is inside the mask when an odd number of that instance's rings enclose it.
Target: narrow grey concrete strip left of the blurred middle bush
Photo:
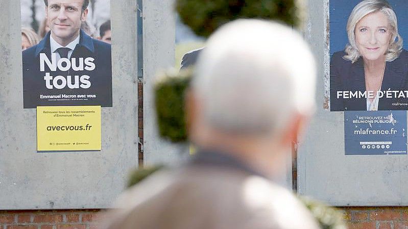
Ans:
[[[188,145],[159,138],[154,110],[155,76],[174,66],[175,23],[173,1],[143,2],[143,161],[147,165],[178,165],[188,157]]]

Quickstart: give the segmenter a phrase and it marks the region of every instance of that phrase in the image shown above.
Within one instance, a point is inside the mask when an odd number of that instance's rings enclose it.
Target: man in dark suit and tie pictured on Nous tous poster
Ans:
[[[51,31],[22,53],[24,108],[112,106],[110,44],[80,28],[89,0],[44,0]]]

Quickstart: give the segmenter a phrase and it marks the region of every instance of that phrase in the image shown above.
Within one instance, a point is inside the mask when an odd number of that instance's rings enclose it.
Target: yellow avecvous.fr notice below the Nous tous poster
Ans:
[[[37,107],[37,151],[101,150],[101,106]]]

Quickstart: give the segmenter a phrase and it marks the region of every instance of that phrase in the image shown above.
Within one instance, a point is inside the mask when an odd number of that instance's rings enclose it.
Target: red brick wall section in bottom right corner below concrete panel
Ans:
[[[343,207],[349,229],[408,229],[408,207]]]

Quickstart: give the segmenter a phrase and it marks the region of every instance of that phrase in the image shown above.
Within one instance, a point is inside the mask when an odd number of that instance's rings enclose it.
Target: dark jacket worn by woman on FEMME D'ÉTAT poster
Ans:
[[[344,52],[334,53],[330,61],[330,111],[365,111],[366,98],[337,98],[337,91],[366,90],[364,77],[364,61],[359,58],[356,62],[344,60]],[[381,91],[406,91],[408,78],[408,52],[402,50],[400,56],[392,62],[386,62],[386,69],[382,80]],[[399,103],[399,105],[393,105]],[[378,110],[408,110],[407,98],[379,98]],[[402,104],[402,105],[401,105]]]

